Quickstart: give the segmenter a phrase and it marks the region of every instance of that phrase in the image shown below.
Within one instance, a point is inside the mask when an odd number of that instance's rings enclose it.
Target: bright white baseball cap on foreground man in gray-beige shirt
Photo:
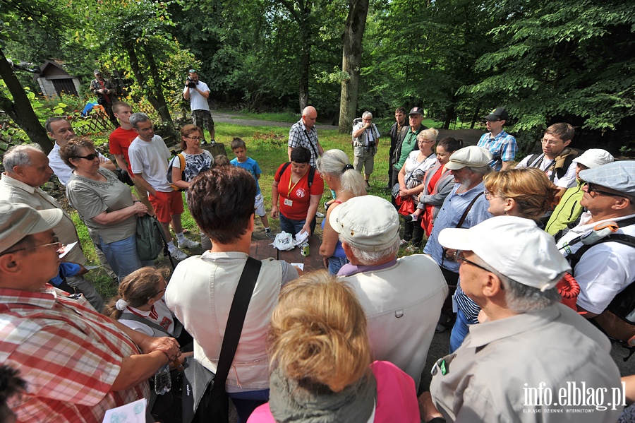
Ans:
[[[553,237],[530,219],[496,216],[468,229],[447,228],[439,243],[472,251],[492,270],[540,291],[555,287],[571,270]]]

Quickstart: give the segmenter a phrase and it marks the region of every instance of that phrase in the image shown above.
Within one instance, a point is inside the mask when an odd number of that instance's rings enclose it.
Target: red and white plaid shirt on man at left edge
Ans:
[[[18,369],[27,391],[18,422],[102,422],[106,410],[147,398],[147,383],[111,391],[134,342],[85,299],[45,285],[0,289],[0,362]]]

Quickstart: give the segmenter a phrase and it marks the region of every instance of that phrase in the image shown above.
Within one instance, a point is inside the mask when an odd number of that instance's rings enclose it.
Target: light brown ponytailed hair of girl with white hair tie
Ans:
[[[135,270],[123,278],[116,296],[104,306],[104,315],[114,319],[121,316],[122,311],[117,309],[115,305],[118,299],[123,299],[131,307],[144,306],[150,298],[156,297],[159,290],[163,289],[163,287],[159,287],[159,282],[162,278],[167,280],[169,274],[168,268],[146,267]]]

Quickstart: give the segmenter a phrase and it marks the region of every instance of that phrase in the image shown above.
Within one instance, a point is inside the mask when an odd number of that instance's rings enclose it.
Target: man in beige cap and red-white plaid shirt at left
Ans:
[[[47,283],[58,273],[59,209],[0,204],[0,362],[27,381],[18,422],[101,422],[147,398],[147,379],[179,357],[174,338],[152,338]]]

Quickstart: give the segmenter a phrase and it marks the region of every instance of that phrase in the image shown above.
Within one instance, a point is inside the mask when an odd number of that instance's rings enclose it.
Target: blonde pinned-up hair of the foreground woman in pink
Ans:
[[[272,369],[335,393],[368,375],[366,317],[353,289],[326,270],[283,287],[271,318],[269,354]]]

